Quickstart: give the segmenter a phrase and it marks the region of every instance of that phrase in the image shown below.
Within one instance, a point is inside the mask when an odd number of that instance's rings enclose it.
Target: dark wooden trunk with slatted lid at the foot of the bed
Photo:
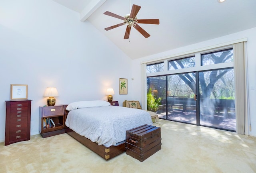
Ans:
[[[144,161],[161,149],[161,129],[143,125],[126,131],[126,154]]]

